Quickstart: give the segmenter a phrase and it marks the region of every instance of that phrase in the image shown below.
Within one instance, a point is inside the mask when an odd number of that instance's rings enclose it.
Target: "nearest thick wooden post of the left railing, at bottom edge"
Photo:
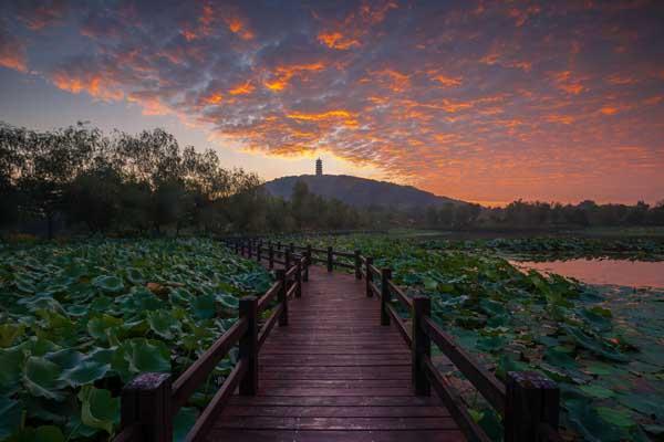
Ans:
[[[170,373],[138,375],[122,389],[121,428],[139,425],[143,441],[173,440]]]

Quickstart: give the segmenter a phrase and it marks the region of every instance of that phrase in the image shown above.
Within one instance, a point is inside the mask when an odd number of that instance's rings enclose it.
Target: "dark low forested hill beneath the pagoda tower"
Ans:
[[[412,186],[400,186],[392,182],[376,181],[347,175],[302,175],[299,177],[282,177],[266,183],[268,191],[277,197],[290,199],[295,182],[303,181],[309,191],[325,198],[335,198],[354,207],[391,206],[413,208],[443,206],[447,202],[455,204],[463,201],[416,189]]]

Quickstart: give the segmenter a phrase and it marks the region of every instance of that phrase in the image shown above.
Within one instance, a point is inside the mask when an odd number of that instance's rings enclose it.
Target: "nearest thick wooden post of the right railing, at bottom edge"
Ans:
[[[505,387],[505,442],[540,441],[542,425],[558,429],[560,390],[556,382],[535,371],[509,371]]]

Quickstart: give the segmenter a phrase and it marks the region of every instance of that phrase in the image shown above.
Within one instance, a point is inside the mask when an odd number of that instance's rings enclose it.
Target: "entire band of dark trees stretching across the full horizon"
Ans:
[[[224,167],[214,150],[180,148],[163,129],[104,135],[87,125],[37,131],[0,123],[3,232],[294,232],[417,227],[522,229],[664,225],[664,204],[515,201],[500,209],[448,203],[407,211],[354,208],[298,182],[290,201],[260,178]]]

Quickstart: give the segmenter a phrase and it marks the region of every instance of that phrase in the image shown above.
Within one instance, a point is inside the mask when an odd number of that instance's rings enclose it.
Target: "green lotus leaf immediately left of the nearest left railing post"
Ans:
[[[81,421],[112,434],[113,427],[120,422],[120,398],[113,398],[108,390],[84,386],[79,392],[79,400]]]

